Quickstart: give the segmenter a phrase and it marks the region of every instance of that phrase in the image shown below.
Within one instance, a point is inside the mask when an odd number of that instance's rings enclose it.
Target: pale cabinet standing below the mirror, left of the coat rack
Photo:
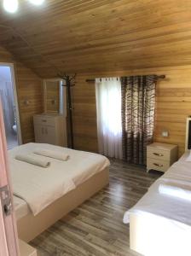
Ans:
[[[59,114],[42,113],[33,117],[36,143],[67,147],[67,120]]]

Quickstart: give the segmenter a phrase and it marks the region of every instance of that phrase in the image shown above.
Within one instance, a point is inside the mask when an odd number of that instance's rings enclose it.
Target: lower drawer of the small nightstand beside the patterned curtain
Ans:
[[[147,168],[148,170],[157,170],[160,172],[166,172],[170,167],[170,161],[165,160],[156,160],[153,158],[148,158],[147,160]]]

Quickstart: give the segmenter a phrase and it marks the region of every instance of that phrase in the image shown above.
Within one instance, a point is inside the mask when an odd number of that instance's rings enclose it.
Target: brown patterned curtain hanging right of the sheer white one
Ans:
[[[146,164],[147,145],[153,142],[157,76],[123,77],[122,136],[124,160]]]

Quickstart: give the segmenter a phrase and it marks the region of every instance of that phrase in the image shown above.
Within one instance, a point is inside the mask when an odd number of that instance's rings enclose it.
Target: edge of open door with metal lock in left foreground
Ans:
[[[0,100],[0,255],[19,256],[18,232],[14,215],[13,190],[10,183],[9,159],[5,128],[3,123],[3,108]],[[4,207],[7,206],[7,213]]]

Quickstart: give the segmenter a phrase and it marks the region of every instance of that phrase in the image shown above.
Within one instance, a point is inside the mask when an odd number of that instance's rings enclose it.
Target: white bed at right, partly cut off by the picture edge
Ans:
[[[188,154],[186,150],[136,206],[124,213],[124,223],[130,223],[130,248],[137,253],[145,256],[191,255],[191,201],[159,194],[159,185],[167,182],[191,189]]]

